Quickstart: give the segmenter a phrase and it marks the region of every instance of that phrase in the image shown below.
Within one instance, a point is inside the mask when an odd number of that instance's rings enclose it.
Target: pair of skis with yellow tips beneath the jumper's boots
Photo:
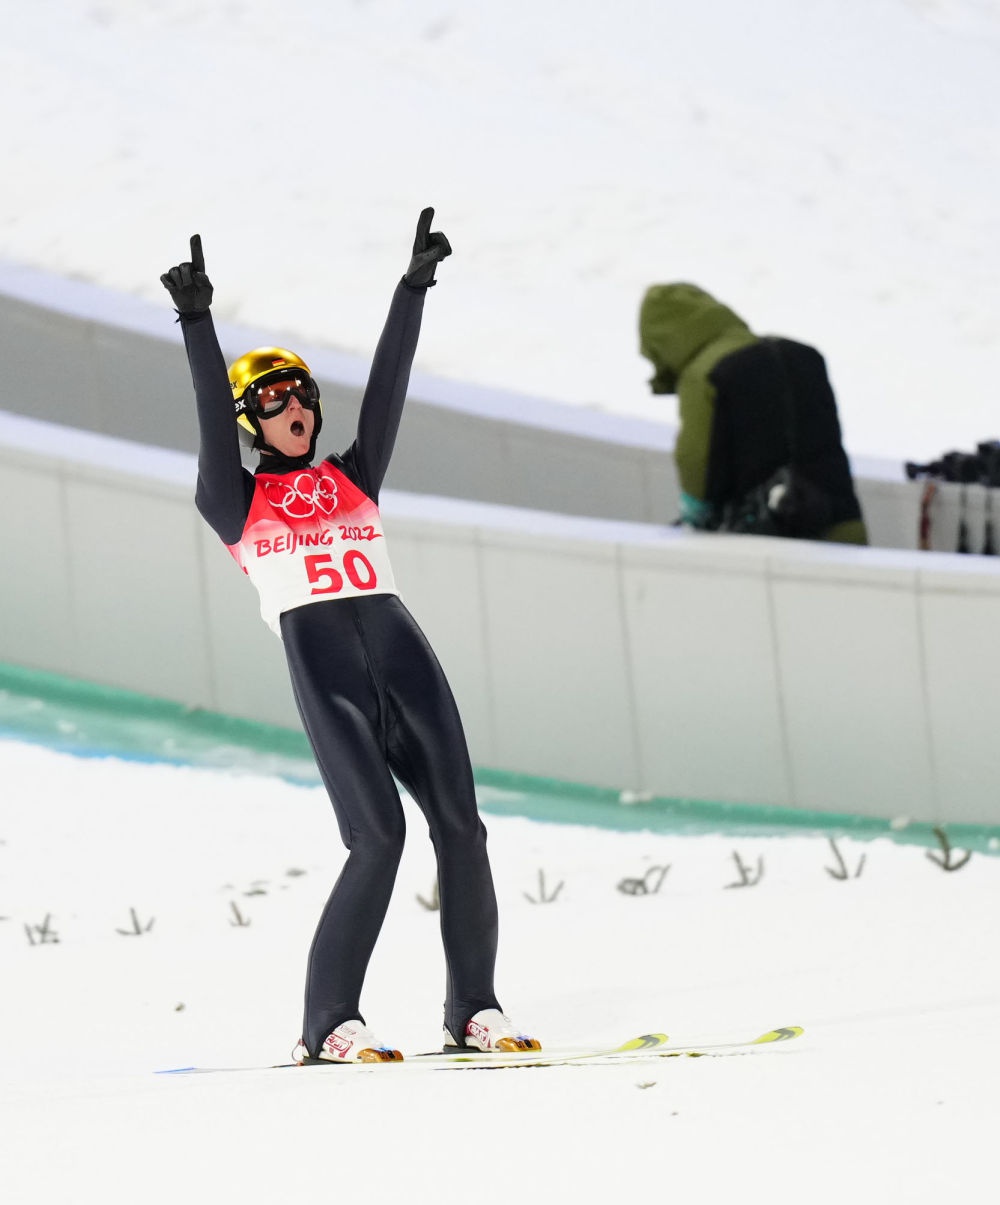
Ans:
[[[552,1051],[512,1051],[495,1053],[484,1051],[441,1050],[408,1054],[402,1063],[273,1063],[258,1066],[173,1066],[157,1071],[157,1075],[211,1075],[225,1071],[277,1071],[287,1068],[322,1066],[354,1068],[371,1070],[376,1066],[408,1066],[425,1070],[488,1070],[501,1071],[514,1068],[539,1066],[577,1066],[610,1065],[614,1063],[645,1063],[660,1058],[718,1058],[730,1054],[749,1054],[754,1051],[788,1042],[801,1038],[805,1030],[801,1025],[783,1025],[769,1029],[757,1038],[695,1042],[692,1045],[671,1044],[666,1034],[640,1034],[630,1038],[620,1046],[571,1047]]]

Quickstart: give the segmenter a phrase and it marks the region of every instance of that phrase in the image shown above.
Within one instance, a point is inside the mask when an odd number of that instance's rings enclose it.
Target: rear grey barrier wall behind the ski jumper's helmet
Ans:
[[[387,292],[387,306],[388,298]],[[222,322],[217,328],[223,351],[233,357],[281,341],[273,331]],[[377,334],[372,331],[372,346]],[[325,446],[347,447],[367,360],[295,346],[323,390]],[[165,294],[153,305],[0,260],[0,360],[31,365],[18,378],[18,413],[196,451],[190,377]],[[13,405],[0,396],[0,408]],[[387,484],[469,501],[671,523],[678,510],[671,455],[676,400],[663,399],[660,413],[663,421],[651,422],[413,374]],[[998,435],[983,431],[983,439]],[[901,446],[900,457],[905,454]],[[916,548],[922,487],[905,481],[902,460],[854,459],[852,468],[871,543]],[[955,548],[959,499],[954,486],[936,498],[935,549]],[[970,487],[976,551],[982,547],[984,501],[984,492]]]

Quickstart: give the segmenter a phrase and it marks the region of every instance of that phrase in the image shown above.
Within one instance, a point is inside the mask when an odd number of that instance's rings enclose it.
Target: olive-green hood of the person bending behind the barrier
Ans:
[[[653,393],[676,393],[687,365],[720,336],[753,339],[729,306],[696,284],[653,284],[639,310],[639,349],[655,369]]]

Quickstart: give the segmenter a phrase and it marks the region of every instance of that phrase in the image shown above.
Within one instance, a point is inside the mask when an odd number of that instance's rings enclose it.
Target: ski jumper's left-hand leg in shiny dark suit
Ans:
[[[405,837],[381,737],[382,706],[352,611],[346,600],[316,604],[282,621],[295,701],[349,851],[308,956],[302,1038],[312,1054],[331,1029],[361,1016],[365,971]]]

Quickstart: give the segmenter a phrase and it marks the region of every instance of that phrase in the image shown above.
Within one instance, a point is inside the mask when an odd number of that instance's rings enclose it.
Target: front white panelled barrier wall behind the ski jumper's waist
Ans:
[[[0,415],[0,659],[294,727],[194,460]],[[1000,823],[993,558],[387,493],[472,757],[658,795]]]

